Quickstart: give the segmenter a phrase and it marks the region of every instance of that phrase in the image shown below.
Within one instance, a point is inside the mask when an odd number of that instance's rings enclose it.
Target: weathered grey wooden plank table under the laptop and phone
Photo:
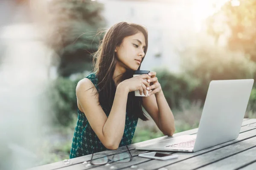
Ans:
[[[187,130],[180,133],[175,133],[174,136],[196,134],[198,128]],[[43,165],[32,168],[33,170],[256,170],[256,119],[244,119],[239,137],[236,140],[219,144],[195,153],[176,153],[179,155],[177,159],[166,161],[147,159],[139,157],[138,154],[148,151],[136,150],[135,146],[161,141],[171,138],[163,136],[157,139],[151,139],[145,142],[129,145],[132,160],[127,163],[111,163],[106,165],[92,165],[86,167],[82,164],[84,161],[89,161],[91,155],[81,156],[70,159],[72,164],[65,164],[63,161],[52,164]],[[117,150],[107,150],[104,153],[108,156],[118,154],[126,150],[126,147],[119,147]],[[173,153],[173,152],[163,152]],[[113,168],[114,167],[114,168]]]

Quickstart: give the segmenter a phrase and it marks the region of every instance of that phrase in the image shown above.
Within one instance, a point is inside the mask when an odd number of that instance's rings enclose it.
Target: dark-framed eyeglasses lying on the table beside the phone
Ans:
[[[132,159],[131,152],[126,145],[127,151],[113,155],[112,159],[109,159],[109,156],[105,154],[92,154],[92,157],[90,159],[90,164],[93,165],[103,165],[110,162],[116,162],[116,163],[125,163],[129,162]],[[94,153],[94,147],[93,147],[93,153]]]

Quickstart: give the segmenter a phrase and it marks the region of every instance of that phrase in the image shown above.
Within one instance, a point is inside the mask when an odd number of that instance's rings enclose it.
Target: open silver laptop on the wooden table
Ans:
[[[239,136],[254,79],[212,80],[197,135],[137,146],[138,150],[196,152]]]

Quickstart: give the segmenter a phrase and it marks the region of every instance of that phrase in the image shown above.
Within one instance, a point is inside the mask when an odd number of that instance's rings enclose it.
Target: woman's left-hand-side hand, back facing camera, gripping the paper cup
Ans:
[[[150,78],[151,77],[148,74],[142,74],[140,76],[126,79],[120,82],[119,85],[123,85],[124,87],[128,88],[128,92],[139,90],[140,95],[143,93],[147,95],[147,87],[149,87],[149,82],[147,82],[147,79]]]

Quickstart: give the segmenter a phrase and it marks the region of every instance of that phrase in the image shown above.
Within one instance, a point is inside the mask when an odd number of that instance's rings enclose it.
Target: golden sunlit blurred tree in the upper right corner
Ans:
[[[217,41],[227,34],[226,26],[230,32],[227,46],[256,62],[256,0],[230,0],[208,19],[208,32]]]

